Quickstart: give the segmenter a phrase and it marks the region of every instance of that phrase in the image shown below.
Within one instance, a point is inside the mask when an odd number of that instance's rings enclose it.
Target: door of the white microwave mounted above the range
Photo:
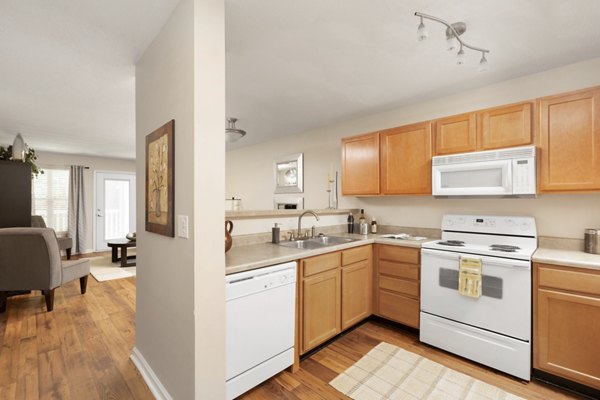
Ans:
[[[434,165],[434,196],[512,195],[511,160]]]

